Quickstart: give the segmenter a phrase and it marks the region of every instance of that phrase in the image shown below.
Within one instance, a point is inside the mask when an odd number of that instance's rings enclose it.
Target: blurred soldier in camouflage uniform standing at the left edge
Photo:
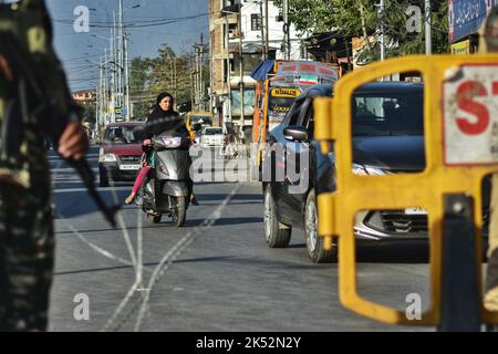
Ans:
[[[52,49],[44,1],[0,0],[0,31],[13,33],[30,53],[37,66],[33,70],[49,88],[56,110],[70,119],[76,111]],[[15,63],[0,55],[1,132],[15,95],[12,65]],[[46,132],[43,117],[30,119],[22,123],[17,154],[3,150],[0,140],[0,331],[44,331],[48,325],[54,238],[50,170],[43,142],[51,132]],[[59,153],[77,160],[86,149],[81,124],[69,123],[59,140]]]

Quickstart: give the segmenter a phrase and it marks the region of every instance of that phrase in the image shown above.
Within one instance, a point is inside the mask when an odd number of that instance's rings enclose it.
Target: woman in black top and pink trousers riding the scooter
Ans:
[[[151,149],[152,138],[155,135],[164,133],[177,136],[189,136],[185,123],[183,122],[178,113],[173,110],[173,105],[174,98],[169,93],[162,93],[157,96],[156,106],[145,123],[145,139],[142,142],[142,147],[145,152],[146,158],[142,163],[143,165],[141,171],[138,173],[138,176],[133,186],[133,190],[126,198],[125,204],[133,202],[145,177],[153,168],[152,166],[154,166],[154,154]],[[190,204],[198,206],[199,204],[193,190],[193,183],[190,189]]]

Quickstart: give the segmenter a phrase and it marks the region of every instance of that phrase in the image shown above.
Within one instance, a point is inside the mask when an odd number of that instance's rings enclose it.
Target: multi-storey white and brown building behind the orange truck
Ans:
[[[211,111],[220,126],[250,136],[256,87],[250,74],[262,60],[286,59],[283,17],[264,0],[210,0],[209,13]],[[304,58],[293,25],[289,33],[289,59]]]

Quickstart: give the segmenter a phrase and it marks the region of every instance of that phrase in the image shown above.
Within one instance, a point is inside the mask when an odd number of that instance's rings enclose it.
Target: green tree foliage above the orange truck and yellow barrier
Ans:
[[[282,0],[276,1],[281,8]],[[366,39],[378,34],[376,1],[371,0],[289,0],[290,21],[302,33],[335,31],[343,35]],[[446,0],[433,0],[433,52],[448,52],[448,21]],[[408,33],[406,10],[417,6],[422,10],[419,32]],[[424,53],[424,0],[385,0],[384,29],[387,56]],[[378,43],[370,43],[360,53],[360,61],[378,60]]]

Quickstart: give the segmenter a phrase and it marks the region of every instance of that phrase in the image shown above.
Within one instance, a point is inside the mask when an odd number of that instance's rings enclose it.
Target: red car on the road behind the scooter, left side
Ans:
[[[100,186],[134,180],[141,168],[144,122],[112,123],[105,127],[98,154]]]

